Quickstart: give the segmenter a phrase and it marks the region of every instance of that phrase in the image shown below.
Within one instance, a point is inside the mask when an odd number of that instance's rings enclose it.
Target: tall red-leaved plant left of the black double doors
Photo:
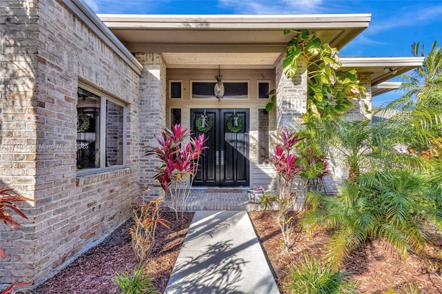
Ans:
[[[164,128],[160,137],[155,136],[160,146],[149,147],[146,155],[155,155],[161,161],[154,175],[165,197],[170,197],[171,208],[178,218],[178,210],[184,211],[186,200],[191,192],[193,179],[198,172],[198,166],[204,146],[204,134],[191,137],[189,128],[182,128],[180,124]],[[184,145],[184,141],[189,142]],[[179,207],[180,206],[180,207]]]

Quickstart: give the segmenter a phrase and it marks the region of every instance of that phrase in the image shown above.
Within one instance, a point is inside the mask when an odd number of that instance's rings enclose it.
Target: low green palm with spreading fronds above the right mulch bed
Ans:
[[[428,177],[410,170],[383,170],[360,175],[358,184],[345,181],[338,195],[309,193],[304,228],[332,229],[327,261],[338,268],[369,239],[383,239],[404,257],[425,253],[432,243],[427,225],[442,224],[442,211],[425,187]]]

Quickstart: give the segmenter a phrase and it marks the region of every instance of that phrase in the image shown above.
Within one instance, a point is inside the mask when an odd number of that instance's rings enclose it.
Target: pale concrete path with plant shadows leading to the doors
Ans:
[[[247,211],[195,211],[165,293],[280,293]]]

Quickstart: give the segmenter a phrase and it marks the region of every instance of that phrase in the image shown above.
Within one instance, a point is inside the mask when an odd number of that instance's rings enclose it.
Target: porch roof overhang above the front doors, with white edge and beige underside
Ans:
[[[131,52],[161,52],[168,68],[273,68],[293,34],[311,29],[343,48],[371,14],[144,15],[98,14]]]

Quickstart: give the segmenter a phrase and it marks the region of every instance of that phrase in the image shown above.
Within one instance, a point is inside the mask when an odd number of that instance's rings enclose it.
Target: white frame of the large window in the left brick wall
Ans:
[[[77,176],[81,175],[93,175],[97,173],[104,173],[111,170],[121,170],[123,168],[127,168],[127,137],[126,137],[126,124],[127,124],[127,104],[124,104],[124,102],[119,101],[118,99],[115,99],[111,97],[110,95],[104,94],[104,92],[101,92],[93,87],[86,86],[85,84],[78,84],[78,88],[82,88],[84,90],[87,90],[94,95],[97,95],[99,97],[100,101],[100,109],[99,109],[99,148],[100,150],[104,150],[104,152],[99,153],[99,168],[85,168],[81,170],[76,170]],[[78,99],[78,98],[77,98]],[[123,127],[122,127],[122,135],[123,135],[123,164],[115,165],[115,166],[106,166],[106,101],[111,101],[113,104],[116,104],[117,106],[121,106],[123,108]],[[77,104],[78,108],[78,104]],[[77,141],[76,141],[77,145]],[[77,151],[76,151],[77,153]],[[75,161],[75,165],[77,166],[77,158]]]

